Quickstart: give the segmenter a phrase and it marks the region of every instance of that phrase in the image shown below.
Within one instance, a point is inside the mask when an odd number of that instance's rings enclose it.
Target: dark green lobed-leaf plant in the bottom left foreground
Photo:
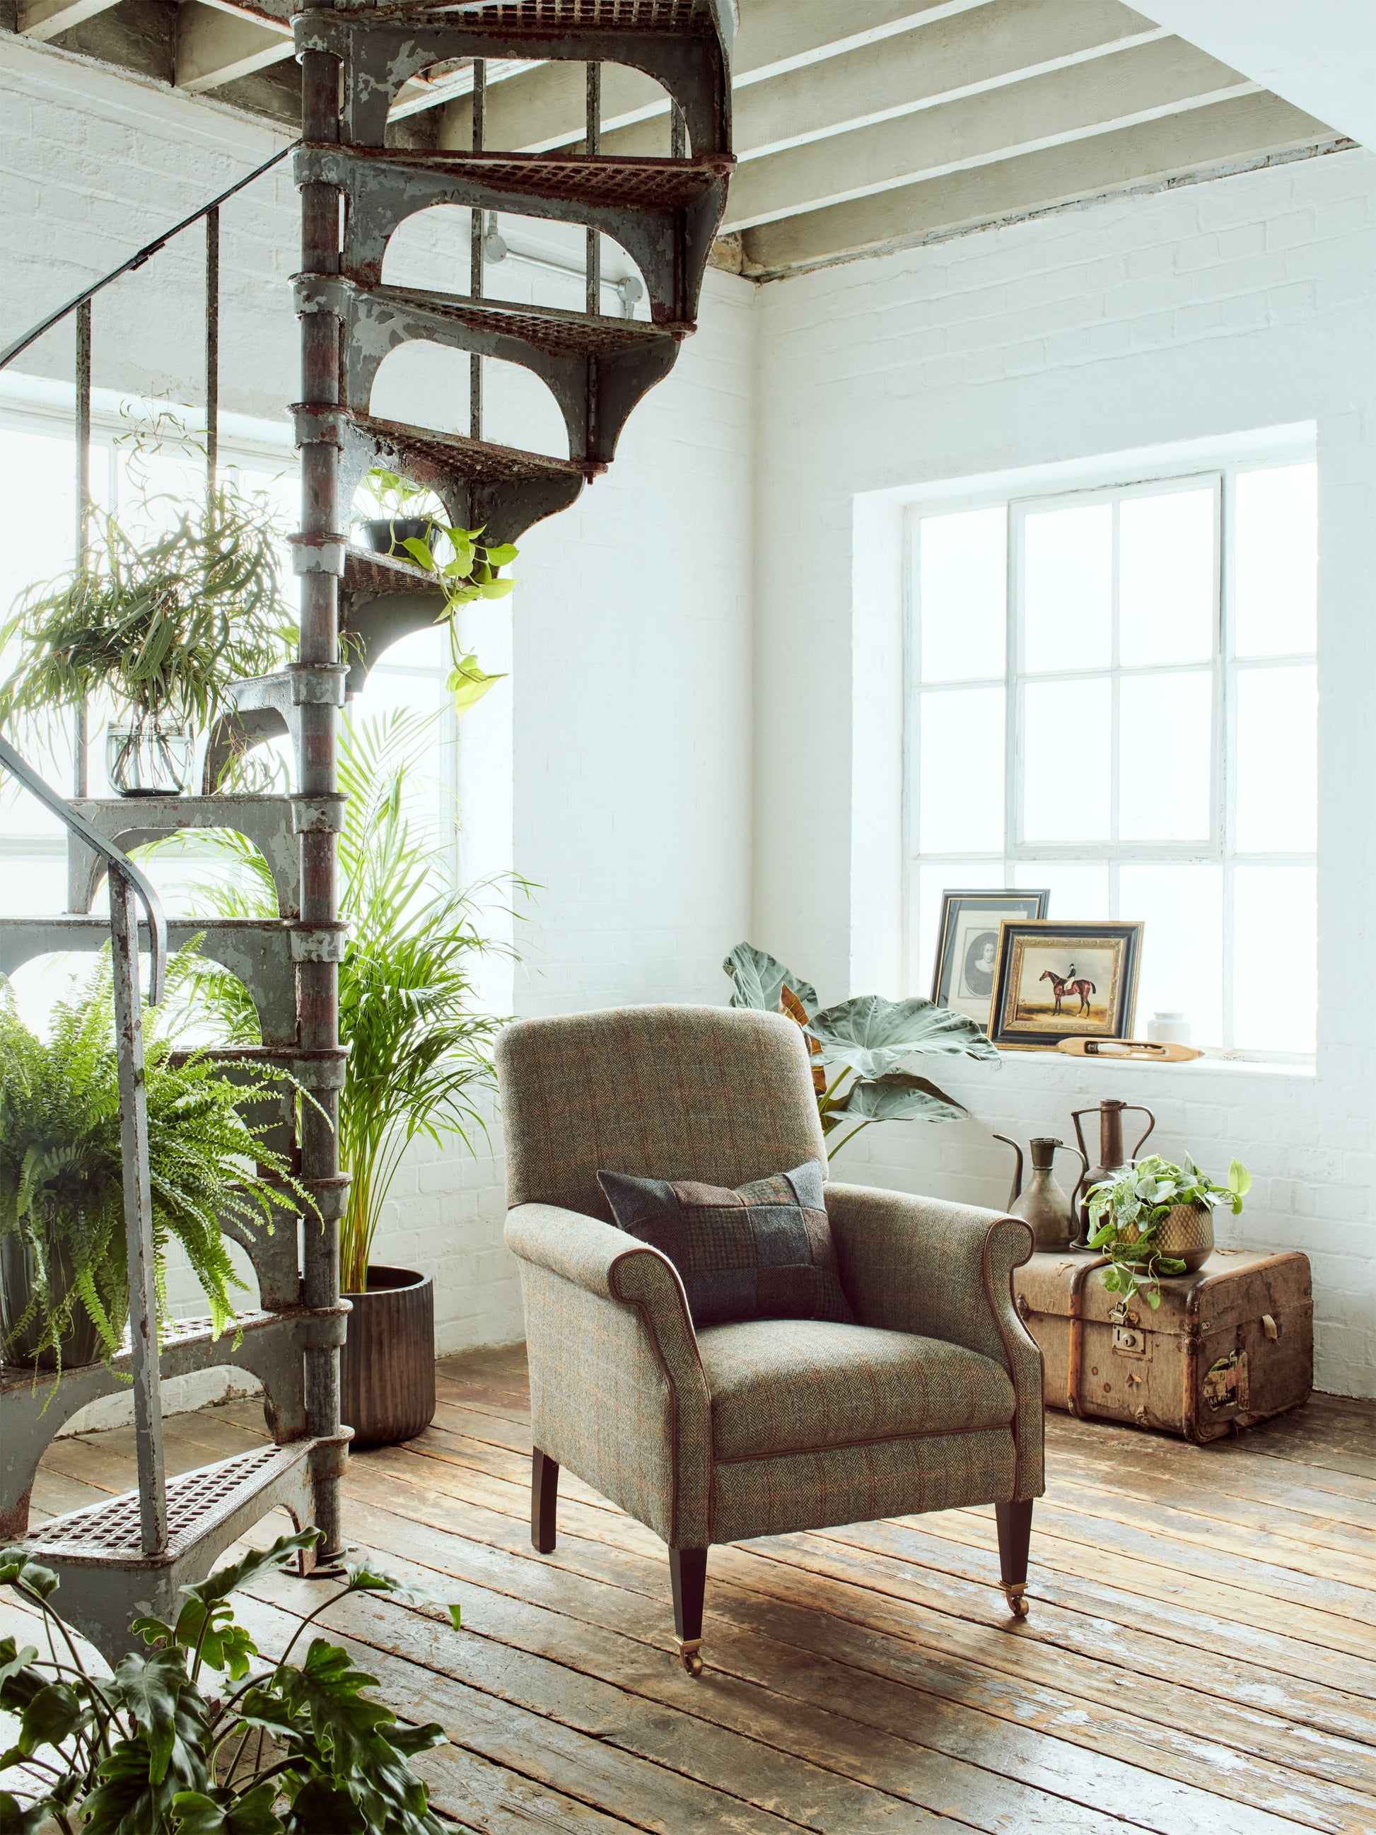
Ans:
[[[51,1659],[0,1639],[4,1835],[442,1835],[411,1758],[444,1729],[404,1727],[363,1690],[374,1677],[349,1652],[314,1637],[312,1618],[350,1593],[405,1596],[389,1574],[347,1563],[347,1582],[301,1622],[277,1663],[262,1664],[235,1624],[229,1595],[284,1569],[319,1541],[317,1529],[182,1587],[176,1624],[136,1618],[149,1646],[97,1679],[48,1604],[57,1574],[24,1549],[0,1551],[0,1585],[39,1613]],[[449,1606],[455,1626],[459,1607]],[[57,1652],[62,1652],[59,1657]],[[22,1780],[22,1782],[18,1782]]]

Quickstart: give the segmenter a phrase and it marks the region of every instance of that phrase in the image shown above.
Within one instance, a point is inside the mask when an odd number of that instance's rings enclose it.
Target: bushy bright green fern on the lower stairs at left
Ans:
[[[172,976],[178,971],[185,952],[172,958]],[[174,1055],[158,1009],[145,1015],[145,1055],[158,1299],[165,1310],[165,1255],[176,1239],[218,1334],[233,1319],[231,1288],[244,1284],[220,1220],[272,1229],[310,1202],[262,1140],[268,1123],[250,1119],[292,1079],[253,1061]],[[35,1351],[57,1349],[77,1308],[106,1352],[119,1349],[128,1314],[119,1116],[108,958],[53,1007],[48,1042],[29,1031],[0,980],[0,1239],[17,1237],[33,1268],[28,1305],[13,1308],[0,1356],[35,1321]]]

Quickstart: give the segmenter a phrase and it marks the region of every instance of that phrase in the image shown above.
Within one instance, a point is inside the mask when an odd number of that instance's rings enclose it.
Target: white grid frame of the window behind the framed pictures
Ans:
[[[904,991],[927,995],[930,974],[919,960],[917,895],[923,866],[949,864],[952,884],[961,883],[967,866],[1000,866],[1007,884],[1015,881],[1016,868],[1048,862],[1090,862],[1103,861],[1108,870],[1108,914],[1119,912],[1119,866],[1136,862],[1150,864],[1215,864],[1222,872],[1222,1011],[1224,1042],[1209,1046],[1209,1055],[1237,1061],[1271,1064],[1312,1064],[1314,1053],[1288,1051],[1242,1051],[1233,1046],[1233,932],[1235,932],[1235,872],[1238,866],[1317,866],[1317,851],[1310,853],[1244,853],[1231,846],[1237,831],[1237,784],[1229,773],[1229,758],[1235,752],[1235,728],[1238,706],[1238,677],[1246,672],[1268,668],[1317,666],[1317,650],[1292,651],[1275,657],[1235,657],[1233,655],[1233,562],[1231,530],[1237,508],[1237,479],[1246,472],[1275,470],[1288,464],[1314,464],[1315,450],[1312,439],[1257,442],[1251,448],[1229,442],[1229,450],[1220,453],[1216,462],[1207,462],[1204,455],[1193,462],[1163,464],[1161,470],[1115,468],[1110,461],[1099,477],[1077,479],[1073,486],[1060,490],[983,490],[971,494],[941,492],[934,497],[917,497],[904,506],[903,527],[903,642],[904,642],[904,708],[903,708],[903,965]],[[1215,633],[1207,661],[1183,664],[1130,666],[1119,662],[1119,607],[1117,607],[1117,541],[1119,541],[1119,505],[1134,495],[1160,495],[1163,490],[1189,490],[1215,481]],[[1068,508],[1103,501],[1114,503],[1114,607],[1112,607],[1112,655],[1108,666],[1086,670],[1066,670],[1064,673],[1038,673],[1033,681],[1064,681],[1075,677],[1112,679],[1114,728],[1117,721],[1119,683],[1125,673],[1189,673],[1209,668],[1213,673],[1213,745],[1211,745],[1211,833],[1207,840],[1185,842],[1136,842],[1110,839],[1104,842],[1027,842],[1022,839],[1022,690],[1029,679],[1022,668],[1022,539],[1026,517],[1033,510]],[[939,850],[930,855],[919,851],[919,769],[921,769],[921,697],[925,694],[943,694],[960,688],[996,686],[1000,677],[971,677],[967,681],[923,683],[921,679],[921,585],[917,567],[917,525],[927,516],[950,516],[963,510],[1004,508],[1007,512],[1007,580],[1005,580],[1005,657],[1004,657],[1004,848],[976,850],[960,853]],[[1108,738],[1110,822],[1119,820],[1119,784],[1117,784],[1117,745]],[[1022,877],[1035,883],[1027,873]],[[1126,914],[1130,916],[1130,914]]]

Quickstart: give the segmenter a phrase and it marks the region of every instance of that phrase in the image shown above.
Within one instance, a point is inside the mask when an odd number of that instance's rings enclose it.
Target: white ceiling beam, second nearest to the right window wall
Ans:
[[[723,228],[749,229],[1255,90],[1182,39],[1143,44],[750,160],[732,178]]]

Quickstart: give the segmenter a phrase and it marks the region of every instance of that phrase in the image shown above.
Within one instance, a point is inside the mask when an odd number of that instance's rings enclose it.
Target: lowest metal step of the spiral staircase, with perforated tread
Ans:
[[[204,1580],[220,1554],[268,1510],[284,1505],[299,1529],[312,1521],[314,1483],[341,1474],[349,1429],[330,1439],[261,1446],[167,1481],[167,1549],[145,1554],[139,1496],[53,1518],[22,1549],[61,1580],[53,1606],[110,1661],[138,1640],[134,1613],[174,1618],[183,1584]]]

